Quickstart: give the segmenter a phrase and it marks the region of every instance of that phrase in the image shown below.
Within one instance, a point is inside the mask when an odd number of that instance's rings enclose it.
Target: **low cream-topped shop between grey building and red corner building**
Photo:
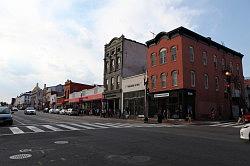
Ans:
[[[122,112],[130,116],[144,115],[145,73],[122,79]]]

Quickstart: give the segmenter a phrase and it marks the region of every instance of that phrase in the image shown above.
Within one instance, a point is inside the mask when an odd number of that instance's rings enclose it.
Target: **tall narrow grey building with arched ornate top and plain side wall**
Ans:
[[[145,72],[147,48],[123,35],[105,45],[104,109],[122,110],[122,78]]]

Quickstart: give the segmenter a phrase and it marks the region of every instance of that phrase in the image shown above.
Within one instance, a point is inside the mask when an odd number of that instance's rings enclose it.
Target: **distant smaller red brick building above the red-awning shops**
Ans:
[[[76,82],[72,82],[71,80],[67,80],[64,85],[64,96],[65,99],[69,98],[69,94],[73,92],[79,92],[84,89],[91,89],[94,88],[93,85],[87,85],[87,84],[80,84]]]

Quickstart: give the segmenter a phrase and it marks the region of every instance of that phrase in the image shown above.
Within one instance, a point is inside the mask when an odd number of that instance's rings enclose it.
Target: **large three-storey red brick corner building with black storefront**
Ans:
[[[243,55],[184,27],[146,42],[149,114],[228,119],[241,108]]]

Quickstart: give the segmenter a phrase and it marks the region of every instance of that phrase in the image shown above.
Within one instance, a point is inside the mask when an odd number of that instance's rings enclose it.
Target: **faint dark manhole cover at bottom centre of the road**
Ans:
[[[147,162],[151,158],[149,156],[132,156],[132,155],[109,155],[108,160],[125,163],[142,163]]]

